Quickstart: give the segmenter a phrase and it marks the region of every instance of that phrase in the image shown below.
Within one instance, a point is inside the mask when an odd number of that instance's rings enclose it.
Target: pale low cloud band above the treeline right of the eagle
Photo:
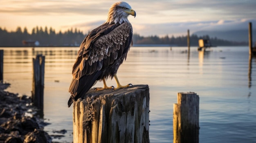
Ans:
[[[248,20],[215,20],[215,21],[202,21],[202,22],[173,22],[173,23],[163,23],[163,24],[141,24],[143,28],[134,28],[135,33],[141,35],[186,35],[187,30],[190,33],[196,31],[229,31],[238,29],[248,29],[248,23],[252,22],[252,25],[256,25],[256,19]],[[135,25],[136,26],[136,25]],[[256,26],[253,27],[256,29]]]

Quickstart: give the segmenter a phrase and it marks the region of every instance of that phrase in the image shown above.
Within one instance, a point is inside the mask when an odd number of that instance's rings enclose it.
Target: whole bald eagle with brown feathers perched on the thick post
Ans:
[[[117,79],[117,70],[132,45],[132,25],[128,15],[136,16],[130,5],[116,2],[110,7],[106,22],[93,29],[81,43],[72,68],[68,107],[83,97],[97,81],[103,81],[104,86],[96,90],[111,89],[106,85],[109,77],[115,77],[117,82],[114,90],[130,86],[121,86]]]

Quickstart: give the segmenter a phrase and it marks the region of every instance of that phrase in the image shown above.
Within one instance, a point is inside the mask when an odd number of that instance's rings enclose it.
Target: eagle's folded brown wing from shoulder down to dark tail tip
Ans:
[[[132,44],[132,25],[102,24],[83,40],[74,63],[68,106],[82,97],[94,84],[104,69],[126,54]]]

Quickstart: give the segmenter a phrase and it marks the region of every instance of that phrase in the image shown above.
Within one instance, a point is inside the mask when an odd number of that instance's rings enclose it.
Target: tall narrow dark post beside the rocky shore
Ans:
[[[36,55],[33,58],[32,102],[43,114],[43,93],[45,76],[45,56]]]

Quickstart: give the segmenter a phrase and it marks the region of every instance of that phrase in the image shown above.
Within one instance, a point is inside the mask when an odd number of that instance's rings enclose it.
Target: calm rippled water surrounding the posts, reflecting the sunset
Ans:
[[[32,58],[45,55],[44,118],[49,134],[67,130],[54,141],[70,143],[72,108],[67,108],[71,69],[78,48],[4,49],[7,90],[31,95]],[[198,52],[186,47],[132,47],[117,75],[123,84],[150,87],[150,142],[173,142],[173,103],[177,92],[200,97],[200,143],[256,142],[256,58],[249,70],[248,47],[216,47]],[[108,85],[116,85],[108,80]],[[97,87],[103,86],[97,83]]]

